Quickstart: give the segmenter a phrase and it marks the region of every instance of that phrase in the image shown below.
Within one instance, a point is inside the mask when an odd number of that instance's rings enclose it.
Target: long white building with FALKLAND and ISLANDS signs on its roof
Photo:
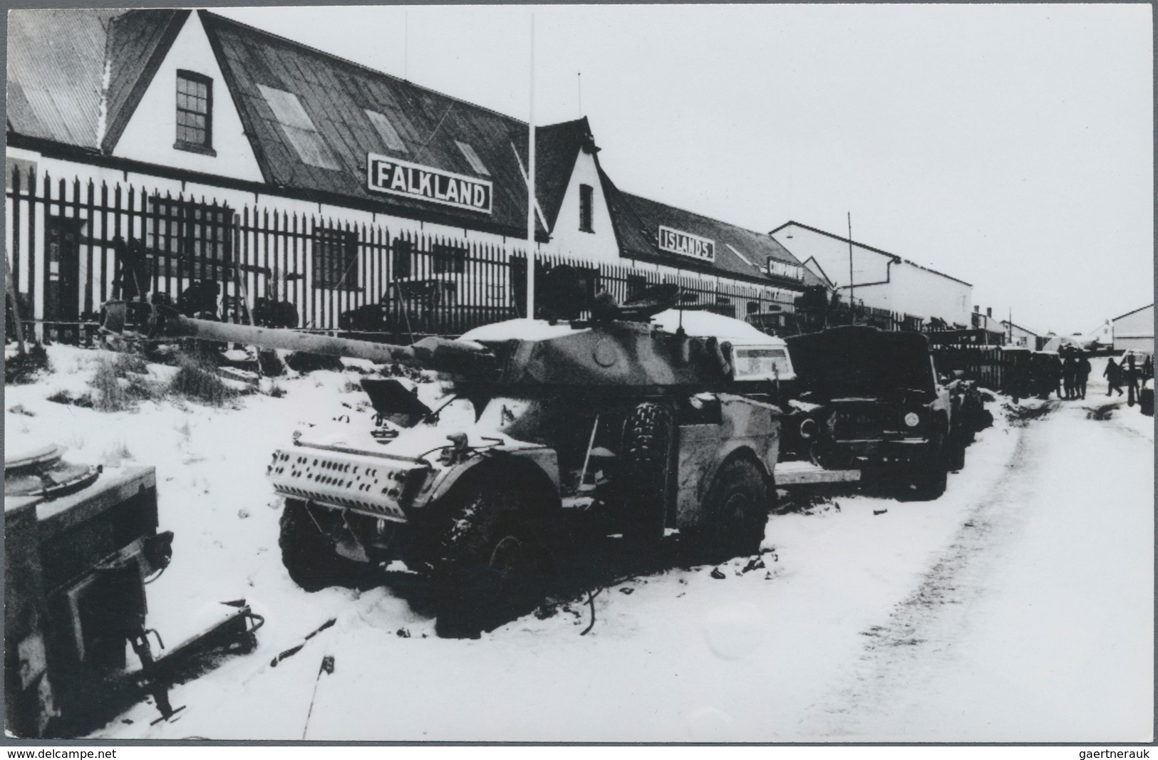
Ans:
[[[287,301],[314,329],[384,307],[454,333],[525,310],[525,121],[206,10],[14,10],[8,37],[25,318],[91,322],[126,276],[178,305],[208,281],[228,319]],[[791,311],[805,280],[768,236],[691,251],[703,235],[666,221],[628,246],[599,150],[586,118],[536,130],[541,267],[566,258],[620,298],[675,281],[736,316]]]

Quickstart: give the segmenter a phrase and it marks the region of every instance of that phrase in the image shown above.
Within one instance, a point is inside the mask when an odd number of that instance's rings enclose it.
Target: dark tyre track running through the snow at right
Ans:
[[[1013,421],[1018,436],[1005,473],[969,511],[945,552],[924,580],[880,625],[860,632],[866,641],[853,664],[851,682],[836,688],[806,710],[802,733],[840,738],[864,735],[885,715],[893,695],[936,673],[928,659],[952,657],[954,640],[968,628],[969,603],[984,593],[983,580],[1002,546],[1017,532],[1017,507],[1029,500],[1045,448],[1041,426],[1057,408],[1047,401],[1040,412]],[[937,503],[928,504],[936,509]]]

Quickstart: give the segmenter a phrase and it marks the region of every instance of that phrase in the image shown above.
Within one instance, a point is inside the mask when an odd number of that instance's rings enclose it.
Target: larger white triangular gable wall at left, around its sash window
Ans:
[[[217,155],[175,148],[177,134],[177,71],[189,71],[213,81],[212,145]],[[263,182],[254,149],[241,126],[221,68],[201,27],[200,16],[189,14],[148,90],[129,119],[112,155],[148,163],[237,179]]]

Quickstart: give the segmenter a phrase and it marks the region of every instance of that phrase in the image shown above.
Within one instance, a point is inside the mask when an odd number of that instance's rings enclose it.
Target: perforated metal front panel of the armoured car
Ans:
[[[283,495],[405,522],[402,504],[419,487],[426,468],[354,455],[278,450],[266,475]]]

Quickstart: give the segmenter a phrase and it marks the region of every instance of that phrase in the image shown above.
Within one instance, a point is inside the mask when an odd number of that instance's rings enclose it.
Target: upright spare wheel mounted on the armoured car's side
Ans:
[[[672,413],[659,404],[638,405],[623,422],[623,537],[644,547],[664,539],[673,438]]]

